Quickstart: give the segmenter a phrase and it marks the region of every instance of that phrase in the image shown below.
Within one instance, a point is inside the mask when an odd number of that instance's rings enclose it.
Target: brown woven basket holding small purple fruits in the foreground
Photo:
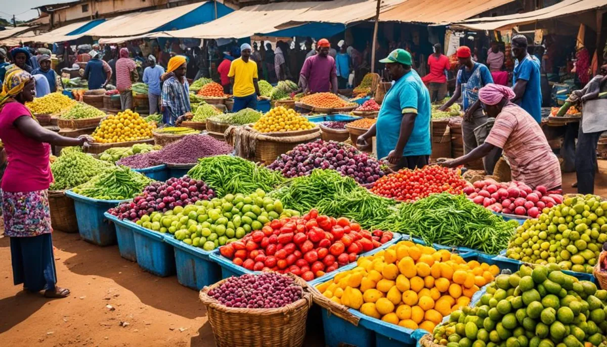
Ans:
[[[200,291],[200,301],[213,329],[217,347],[299,347],[304,344],[305,321],[312,306],[312,294],[305,291],[304,280],[291,275],[304,288],[303,297],[282,308],[229,308],[207,293],[220,286],[221,280]]]

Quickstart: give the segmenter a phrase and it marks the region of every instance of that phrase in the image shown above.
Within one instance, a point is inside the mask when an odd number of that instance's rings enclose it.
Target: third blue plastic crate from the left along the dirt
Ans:
[[[137,263],[139,266],[160,277],[175,274],[175,253],[173,246],[164,241],[164,235],[135,223],[133,225]]]

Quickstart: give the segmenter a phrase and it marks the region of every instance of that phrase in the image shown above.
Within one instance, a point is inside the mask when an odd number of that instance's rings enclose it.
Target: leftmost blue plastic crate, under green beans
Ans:
[[[74,201],[76,210],[76,221],[78,221],[78,232],[80,236],[97,246],[109,246],[116,244],[116,230],[114,224],[109,223],[104,215],[105,212],[128,200],[99,200],[84,197],[72,190],[65,193]]]

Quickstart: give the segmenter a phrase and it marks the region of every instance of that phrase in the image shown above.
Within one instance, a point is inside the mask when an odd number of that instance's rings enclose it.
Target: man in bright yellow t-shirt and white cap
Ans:
[[[240,58],[234,59],[229,67],[228,77],[234,90],[234,106],[232,112],[239,112],[247,107],[257,108],[257,96],[259,86],[257,85],[257,63],[249,59],[251,57],[251,45],[240,46]]]

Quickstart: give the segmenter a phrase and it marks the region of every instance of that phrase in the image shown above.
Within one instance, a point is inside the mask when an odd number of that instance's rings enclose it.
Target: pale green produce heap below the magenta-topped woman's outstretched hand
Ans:
[[[55,162],[50,164],[55,181],[50,185],[49,190],[73,188],[86,183],[112,166],[112,163],[97,160],[81,152],[80,147],[66,147],[61,150],[61,155]]]

